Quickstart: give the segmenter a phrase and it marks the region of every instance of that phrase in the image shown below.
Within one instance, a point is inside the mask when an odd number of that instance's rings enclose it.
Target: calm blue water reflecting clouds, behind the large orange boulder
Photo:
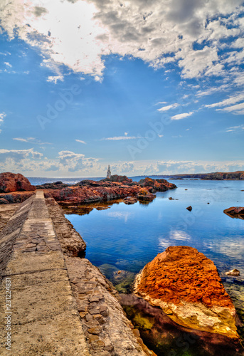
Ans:
[[[244,276],[244,220],[223,214],[230,206],[244,206],[244,182],[171,182],[178,188],[157,193],[148,205],[120,203],[68,215],[87,243],[86,258],[95,266],[109,263],[137,273],[168,246],[185,245],[211,258],[220,273],[238,268]]]

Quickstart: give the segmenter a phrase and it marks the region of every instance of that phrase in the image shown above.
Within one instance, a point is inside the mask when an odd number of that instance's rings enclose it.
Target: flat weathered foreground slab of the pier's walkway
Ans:
[[[3,289],[1,305],[4,299]],[[67,271],[11,276],[11,352],[3,345],[5,328],[0,337],[1,355],[90,355]]]

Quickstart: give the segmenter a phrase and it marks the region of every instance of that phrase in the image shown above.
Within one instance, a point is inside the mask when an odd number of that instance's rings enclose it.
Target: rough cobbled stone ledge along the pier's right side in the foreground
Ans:
[[[155,355],[133,330],[116,298],[117,291],[86,258],[65,257],[68,275],[93,356]]]

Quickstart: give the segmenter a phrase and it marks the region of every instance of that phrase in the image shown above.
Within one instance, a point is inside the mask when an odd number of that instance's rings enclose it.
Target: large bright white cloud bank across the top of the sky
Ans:
[[[243,0],[53,0],[41,4],[39,0],[2,0],[1,26],[10,39],[17,34],[41,50],[43,65],[58,76],[65,65],[100,80],[105,68],[102,56],[110,53],[140,58],[154,68],[174,63],[184,78],[227,78],[229,70],[224,65],[243,63],[243,41],[228,41],[243,36],[244,22],[238,18]],[[238,51],[231,49],[223,56],[219,51],[223,46]]]

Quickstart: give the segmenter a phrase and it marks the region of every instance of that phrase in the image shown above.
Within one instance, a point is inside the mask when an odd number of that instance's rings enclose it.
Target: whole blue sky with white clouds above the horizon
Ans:
[[[1,0],[0,172],[244,170],[240,0]]]

